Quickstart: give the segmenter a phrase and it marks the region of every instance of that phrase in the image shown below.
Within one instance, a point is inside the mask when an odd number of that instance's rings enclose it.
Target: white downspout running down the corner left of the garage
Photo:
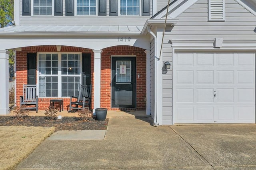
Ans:
[[[154,126],[158,126],[159,125],[159,123],[158,123],[158,121],[157,121],[157,70],[158,70],[158,68],[157,68],[157,62],[159,61],[159,59],[157,58],[157,37],[156,37],[156,35],[150,30],[150,26],[148,25],[148,32],[154,37],[154,45],[155,45],[155,47],[154,47],[154,49],[155,49],[155,52],[154,52],[154,57],[155,57],[155,63],[154,63],[154,65],[155,65],[155,91],[154,91],[154,93],[155,93],[155,102],[154,102]]]

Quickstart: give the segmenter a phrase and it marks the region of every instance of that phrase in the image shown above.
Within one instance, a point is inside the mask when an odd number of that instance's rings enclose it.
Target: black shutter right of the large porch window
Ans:
[[[82,85],[91,84],[91,54],[82,53]]]

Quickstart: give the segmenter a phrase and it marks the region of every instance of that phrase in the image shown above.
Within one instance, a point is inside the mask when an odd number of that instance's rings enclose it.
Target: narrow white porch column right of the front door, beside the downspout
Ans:
[[[145,50],[146,53],[146,115],[150,115],[150,53],[149,50]]]

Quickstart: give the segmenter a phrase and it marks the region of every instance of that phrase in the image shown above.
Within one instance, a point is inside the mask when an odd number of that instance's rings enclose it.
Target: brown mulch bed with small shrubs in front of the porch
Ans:
[[[0,116],[0,126],[40,126],[56,127],[60,130],[106,130],[108,119],[98,121],[81,121],[79,117],[62,117],[62,119],[49,120],[45,116],[26,116],[22,120],[17,120],[13,116]]]

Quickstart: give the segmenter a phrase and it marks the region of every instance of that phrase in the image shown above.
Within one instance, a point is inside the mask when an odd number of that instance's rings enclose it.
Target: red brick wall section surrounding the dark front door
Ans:
[[[111,56],[136,56],[136,110],[146,109],[146,54],[144,49],[131,46],[115,46],[102,49],[101,54],[101,107],[111,108]],[[138,78],[140,74],[140,78]],[[103,76],[104,75],[104,76]],[[112,108],[111,110],[119,110]],[[126,109],[127,110],[127,109]]]

